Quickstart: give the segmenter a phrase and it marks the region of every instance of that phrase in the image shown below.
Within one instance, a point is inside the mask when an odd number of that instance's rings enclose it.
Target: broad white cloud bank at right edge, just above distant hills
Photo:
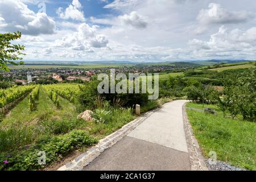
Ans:
[[[209,41],[193,39],[188,44],[195,57],[247,55],[256,50],[255,35],[256,27],[228,31],[221,26],[217,33],[210,35]]]

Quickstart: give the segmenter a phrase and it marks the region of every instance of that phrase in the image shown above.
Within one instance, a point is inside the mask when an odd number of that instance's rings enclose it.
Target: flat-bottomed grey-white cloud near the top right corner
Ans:
[[[204,24],[242,23],[253,18],[255,18],[255,14],[253,13],[247,11],[228,11],[217,3],[210,3],[209,9],[203,9],[197,15],[197,20]]]

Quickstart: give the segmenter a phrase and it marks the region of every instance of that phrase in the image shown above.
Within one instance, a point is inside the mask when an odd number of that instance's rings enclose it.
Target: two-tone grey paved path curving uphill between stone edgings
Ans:
[[[164,105],[84,170],[191,170],[183,127],[185,102]]]

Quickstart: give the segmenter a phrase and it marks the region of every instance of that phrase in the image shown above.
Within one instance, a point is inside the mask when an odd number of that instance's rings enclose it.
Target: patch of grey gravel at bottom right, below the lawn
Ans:
[[[217,161],[216,164],[209,164],[209,161],[206,161],[209,171],[247,171],[247,169],[231,166],[230,164]]]

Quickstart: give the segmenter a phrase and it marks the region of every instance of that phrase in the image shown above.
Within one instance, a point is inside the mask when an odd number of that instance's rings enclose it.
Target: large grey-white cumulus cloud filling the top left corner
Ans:
[[[56,23],[53,19],[45,13],[35,14],[19,0],[1,0],[0,16],[5,24],[5,26],[1,26],[3,31],[21,31],[28,35],[54,34],[56,32]]]

